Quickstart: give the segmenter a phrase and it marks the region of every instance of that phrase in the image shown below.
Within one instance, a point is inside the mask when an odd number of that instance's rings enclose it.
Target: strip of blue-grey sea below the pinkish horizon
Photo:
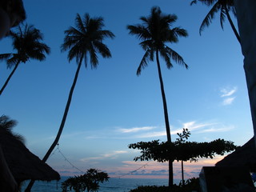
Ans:
[[[62,192],[62,182],[69,177],[62,177],[60,181],[34,182],[31,192]],[[174,179],[178,183],[179,179]],[[26,189],[28,181],[23,182],[22,192]],[[100,184],[98,192],[129,192],[138,186],[168,186],[166,178],[109,178],[108,182]]]

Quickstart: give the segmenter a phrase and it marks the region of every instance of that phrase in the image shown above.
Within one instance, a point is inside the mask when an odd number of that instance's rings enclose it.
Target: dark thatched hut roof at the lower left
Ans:
[[[13,120],[6,116],[0,117],[0,145],[16,182],[27,179],[59,180],[58,172],[32,154],[21,141],[21,136],[10,131],[14,125]]]

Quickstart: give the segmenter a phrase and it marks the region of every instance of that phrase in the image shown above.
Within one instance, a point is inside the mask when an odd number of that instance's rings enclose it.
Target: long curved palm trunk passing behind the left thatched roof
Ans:
[[[65,111],[64,111],[64,114],[63,114],[63,117],[62,117],[62,122],[61,122],[61,125],[58,128],[58,134],[57,134],[53,144],[50,146],[50,149],[47,151],[47,153],[44,156],[44,158],[42,158],[42,162],[46,162],[46,160],[49,158],[51,152],[54,150],[55,146],[57,146],[58,140],[61,137],[62,130],[63,130],[64,126],[65,126],[66,117],[67,117],[67,114],[68,114],[69,109],[70,109],[70,103],[71,103],[71,100],[72,100],[72,95],[73,95],[73,92],[74,92],[74,87],[75,87],[76,82],[78,80],[78,74],[79,74],[81,66],[82,66],[82,58],[80,58],[80,62],[78,64],[78,69],[77,69],[77,71],[76,71],[76,73],[74,75],[74,81],[73,81],[73,84],[72,84],[72,86],[70,88],[70,94],[69,94],[69,98],[67,99],[67,102],[66,102],[66,108],[65,108]],[[29,185],[26,187],[25,192],[30,192],[30,190],[31,190],[33,185],[34,185],[34,180],[31,180]]]

